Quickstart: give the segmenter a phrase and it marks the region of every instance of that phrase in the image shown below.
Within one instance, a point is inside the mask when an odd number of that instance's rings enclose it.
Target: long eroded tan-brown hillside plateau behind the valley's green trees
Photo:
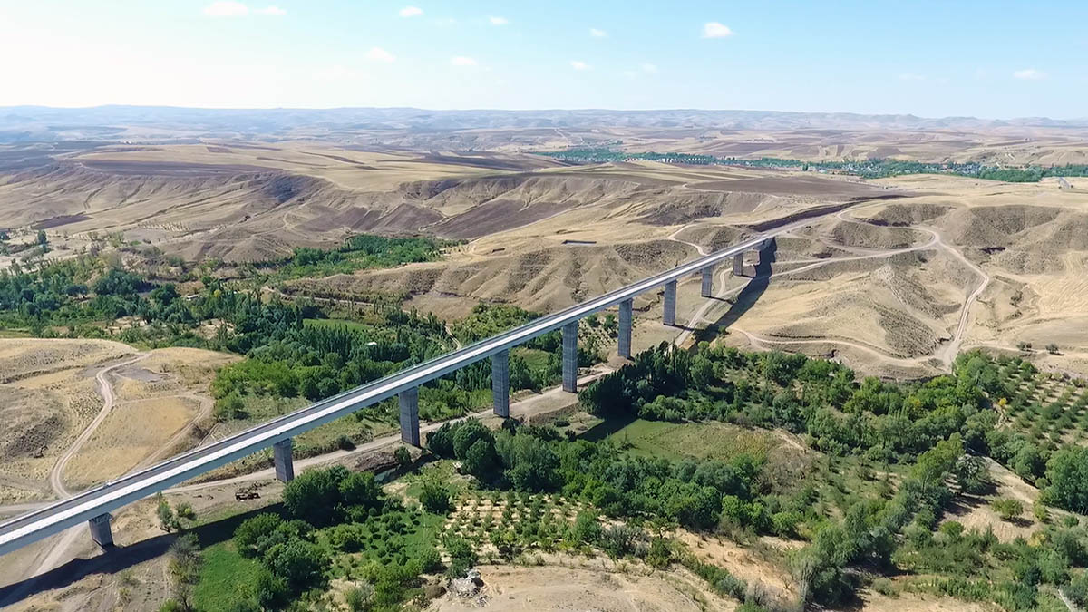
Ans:
[[[598,220],[651,225],[747,222],[888,193],[798,173],[648,162],[568,168],[527,155],[319,143],[107,146],[0,175],[0,227],[46,229],[62,249],[87,246],[91,231],[120,232],[190,260],[247,261],[358,232],[470,240],[588,207]]]

